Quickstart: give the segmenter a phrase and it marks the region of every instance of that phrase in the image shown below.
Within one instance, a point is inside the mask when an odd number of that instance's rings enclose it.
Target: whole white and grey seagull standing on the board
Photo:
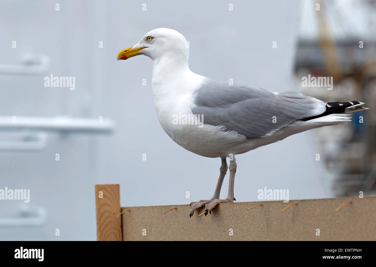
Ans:
[[[189,45],[185,37],[168,28],[149,31],[136,45],[120,51],[117,60],[136,55],[153,60],[155,109],[168,136],[186,150],[221,159],[213,197],[191,202],[190,217],[205,204],[206,216],[218,203],[236,200],[235,155],[309,129],[348,123],[349,113],[368,109],[358,101],[326,103],[295,91],[275,93],[196,74],[188,67]],[[227,169],[228,195],[220,199]]]

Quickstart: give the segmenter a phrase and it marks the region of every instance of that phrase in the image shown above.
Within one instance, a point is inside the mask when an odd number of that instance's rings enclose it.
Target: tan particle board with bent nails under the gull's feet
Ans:
[[[248,203],[263,205],[247,210]],[[123,240],[376,240],[376,196],[220,203],[212,214],[197,217],[199,209],[192,218],[189,205],[121,209],[127,209]]]

